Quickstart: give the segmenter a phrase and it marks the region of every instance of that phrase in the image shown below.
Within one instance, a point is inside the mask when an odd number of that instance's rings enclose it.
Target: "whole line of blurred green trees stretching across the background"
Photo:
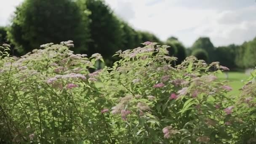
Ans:
[[[11,43],[23,55],[45,43],[74,40],[75,53],[101,53],[111,64],[118,50],[137,48],[145,41],[170,45],[171,56],[180,64],[195,55],[207,62],[220,61],[230,69],[255,66],[256,38],[243,45],[215,48],[208,37],[200,37],[191,48],[176,38],[165,42],[154,34],[133,29],[113,13],[103,0],[24,0],[16,8],[11,24],[0,27],[0,43]]]

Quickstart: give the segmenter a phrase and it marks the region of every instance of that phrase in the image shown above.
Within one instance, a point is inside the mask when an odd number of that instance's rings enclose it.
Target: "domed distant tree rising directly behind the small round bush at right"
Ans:
[[[195,43],[192,45],[192,51],[195,49],[203,49],[207,52],[209,59],[208,62],[212,62],[216,59],[216,55],[214,54],[214,46],[211,43],[209,37],[199,37]]]

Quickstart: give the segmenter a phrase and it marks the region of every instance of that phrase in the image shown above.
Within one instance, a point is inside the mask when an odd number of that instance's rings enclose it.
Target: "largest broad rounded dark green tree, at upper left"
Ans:
[[[88,17],[72,0],[25,0],[16,8],[8,37],[21,53],[66,40],[74,40],[75,52],[84,52]]]

